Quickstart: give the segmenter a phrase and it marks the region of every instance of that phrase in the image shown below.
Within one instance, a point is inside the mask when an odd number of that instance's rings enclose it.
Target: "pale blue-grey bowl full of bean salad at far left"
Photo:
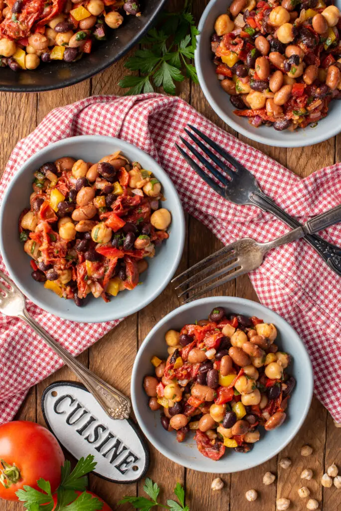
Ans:
[[[8,185],[0,229],[4,262],[22,292],[81,322],[149,304],[184,244],[181,202],[166,173],[132,144],[96,135],[31,157]]]

